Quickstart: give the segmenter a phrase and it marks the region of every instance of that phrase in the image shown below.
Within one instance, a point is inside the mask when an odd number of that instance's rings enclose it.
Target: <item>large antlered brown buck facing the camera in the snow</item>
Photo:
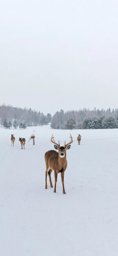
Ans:
[[[72,135],[70,134],[70,139],[71,141],[66,144],[64,147],[60,147],[60,144],[57,144],[54,140],[54,137],[52,135],[51,137],[51,142],[56,144],[54,145],[54,148],[58,150],[49,150],[45,153],[45,161],[46,161],[46,185],[45,188],[47,189],[47,175],[49,175],[49,180],[50,180],[50,187],[52,186],[52,180],[51,180],[51,173],[54,170],[54,175],[55,175],[55,187],[54,191],[56,193],[56,183],[57,183],[57,174],[61,173],[61,180],[62,180],[62,186],[63,186],[63,194],[66,194],[65,188],[64,188],[64,173],[67,167],[67,161],[66,161],[66,150],[71,147],[69,145],[70,143],[73,142]]]

